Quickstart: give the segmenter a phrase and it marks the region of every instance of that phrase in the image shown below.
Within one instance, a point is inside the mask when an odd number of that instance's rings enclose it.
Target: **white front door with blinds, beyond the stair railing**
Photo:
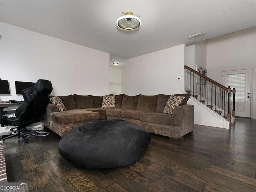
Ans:
[[[236,88],[235,111],[238,117],[249,117],[251,112],[251,69],[223,71],[223,85]],[[233,94],[231,93],[231,114]]]

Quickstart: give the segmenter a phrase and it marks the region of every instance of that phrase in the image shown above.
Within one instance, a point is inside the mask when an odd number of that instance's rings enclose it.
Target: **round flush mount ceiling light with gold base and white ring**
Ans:
[[[122,12],[121,17],[116,20],[116,24],[121,29],[133,30],[141,25],[141,20],[140,16],[135,16],[132,12]]]

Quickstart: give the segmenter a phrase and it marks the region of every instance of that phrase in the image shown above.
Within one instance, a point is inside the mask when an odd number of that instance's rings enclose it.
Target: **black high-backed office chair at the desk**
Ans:
[[[17,126],[18,138],[26,136],[21,135],[21,130],[28,125],[44,120],[44,113],[49,103],[49,95],[52,92],[52,83],[48,80],[40,79],[30,88],[22,91],[24,102],[16,109],[15,117],[4,117],[4,125]]]

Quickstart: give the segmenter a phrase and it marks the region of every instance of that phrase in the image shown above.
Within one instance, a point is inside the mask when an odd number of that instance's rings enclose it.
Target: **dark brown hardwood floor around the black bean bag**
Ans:
[[[180,141],[152,134],[146,154],[122,168],[88,170],[58,153],[60,137],[4,140],[8,182],[30,191],[256,191],[256,120],[237,118],[232,130],[195,125]]]

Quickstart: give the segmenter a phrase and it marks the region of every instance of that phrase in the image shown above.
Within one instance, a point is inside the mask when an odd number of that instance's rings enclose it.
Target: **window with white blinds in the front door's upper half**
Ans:
[[[227,74],[227,86],[236,88],[235,101],[236,102],[245,102],[246,96],[246,74]],[[233,101],[233,97],[230,98]]]

